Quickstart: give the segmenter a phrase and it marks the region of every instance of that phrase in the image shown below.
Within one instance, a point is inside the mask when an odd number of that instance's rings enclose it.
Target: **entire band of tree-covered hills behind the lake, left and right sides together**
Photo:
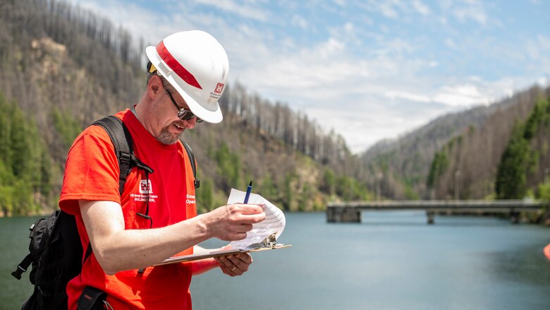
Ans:
[[[0,24],[0,214],[44,213],[56,206],[75,136],[140,99],[143,49],[157,42],[56,0],[1,0]],[[550,88],[523,90],[357,157],[291,105],[230,83],[224,121],[183,139],[199,163],[201,212],[251,179],[284,210],[322,210],[335,200],[550,196],[549,96]]]

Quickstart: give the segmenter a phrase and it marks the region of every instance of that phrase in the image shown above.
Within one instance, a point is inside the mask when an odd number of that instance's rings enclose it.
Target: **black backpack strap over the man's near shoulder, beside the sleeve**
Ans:
[[[132,136],[121,119],[114,115],[109,115],[108,117],[94,121],[92,125],[102,126],[113,142],[115,155],[116,158],[118,158],[118,166],[121,172],[118,177],[118,191],[121,195],[124,191],[126,178],[133,167],[139,167],[147,170],[149,173],[153,173],[153,169],[135,157]]]

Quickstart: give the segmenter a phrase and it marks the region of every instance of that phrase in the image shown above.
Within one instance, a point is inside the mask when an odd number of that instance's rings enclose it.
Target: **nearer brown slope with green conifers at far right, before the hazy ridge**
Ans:
[[[515,105],[453,137],[432,162],[435,198],[534,197],[550,168],[549,97],[550,88],[518,93]]]

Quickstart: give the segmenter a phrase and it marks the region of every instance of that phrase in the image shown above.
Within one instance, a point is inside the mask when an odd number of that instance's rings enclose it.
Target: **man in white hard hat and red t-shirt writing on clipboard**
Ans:
[[[264,220],[259,205],[225,205],[196,216],[190,160],[179,138],[197,121],[217,123],[228,60],[206,32],[178,32],[147,47],[147,89],[132,109],[118,112],[133,138],[135,156],[153,172],[134,168],[122,195],[114,147],[104,129],[90,126],[69,151],[59,205],[75,215],[83,249],[92,255],[67,286],[69,309],[85,287],[106,292],[113,309],[191,309],[191,275],[219,267],[242,275],[248,254],[154,266],[192,254],[206,239],[244,239]],[[84,297],[82,297],[84,298]],[[102,304],[101,304],[102,305]]]

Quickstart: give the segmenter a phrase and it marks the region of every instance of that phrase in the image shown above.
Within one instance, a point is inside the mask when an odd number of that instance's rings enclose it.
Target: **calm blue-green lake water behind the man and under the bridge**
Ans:
[[[0,219],[0,309],[19,309],[30,218]],[[279,242],[253,255],[242,277],[219,270],[193,278],[195,309],[550,309],[550,228],[490,217],[368,212],[361,224],[324,213],[286,214]],[[203,246],[221,246],[212,240]]]

